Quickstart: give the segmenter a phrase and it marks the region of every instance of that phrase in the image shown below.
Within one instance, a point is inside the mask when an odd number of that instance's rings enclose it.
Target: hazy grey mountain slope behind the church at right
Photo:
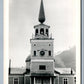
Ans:
[[[76,47],[61,52],[55,56],[56,67],[72,68],[76,71]]]

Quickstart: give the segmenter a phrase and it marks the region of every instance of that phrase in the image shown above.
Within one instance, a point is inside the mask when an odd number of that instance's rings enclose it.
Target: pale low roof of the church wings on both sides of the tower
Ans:
[[[54,69],[54,74],[71,74],[71,71],[73,72],[72,74],[75,74],[74,70],[72,70],[71,68],[55,68]],[[10,70],[10,74],[18,74],[18,75],[22,75],[22,74],[26,74],[26,73],[30,73],[30,70],[26,70],[25,68],[11,68]],[[27,73],[27,74],[28,74]]]

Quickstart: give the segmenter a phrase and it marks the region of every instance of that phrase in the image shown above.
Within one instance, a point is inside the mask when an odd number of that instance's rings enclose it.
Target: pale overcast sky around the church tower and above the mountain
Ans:
[[[39,24],[41,0],[10,0],[9,3],[9,58],[12,67],[22,67],[30,54],[30,38],[34,25]],[[54,38],[54,53],[75,45],[74,0],[43,0],[46,21]]]

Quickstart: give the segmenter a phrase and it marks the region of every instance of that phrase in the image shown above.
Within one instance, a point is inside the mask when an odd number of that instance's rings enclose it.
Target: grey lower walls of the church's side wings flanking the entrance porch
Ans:
[[[19,84],[33,84],[33,78],[31,79],[30,75],[10,75],[8,84],[14,84],[14,78],[19,79]],[[64,84],[64,79],[68,80],[68,84],[75,84],[74,75],[59,75],[54,77],[53,84]]]

